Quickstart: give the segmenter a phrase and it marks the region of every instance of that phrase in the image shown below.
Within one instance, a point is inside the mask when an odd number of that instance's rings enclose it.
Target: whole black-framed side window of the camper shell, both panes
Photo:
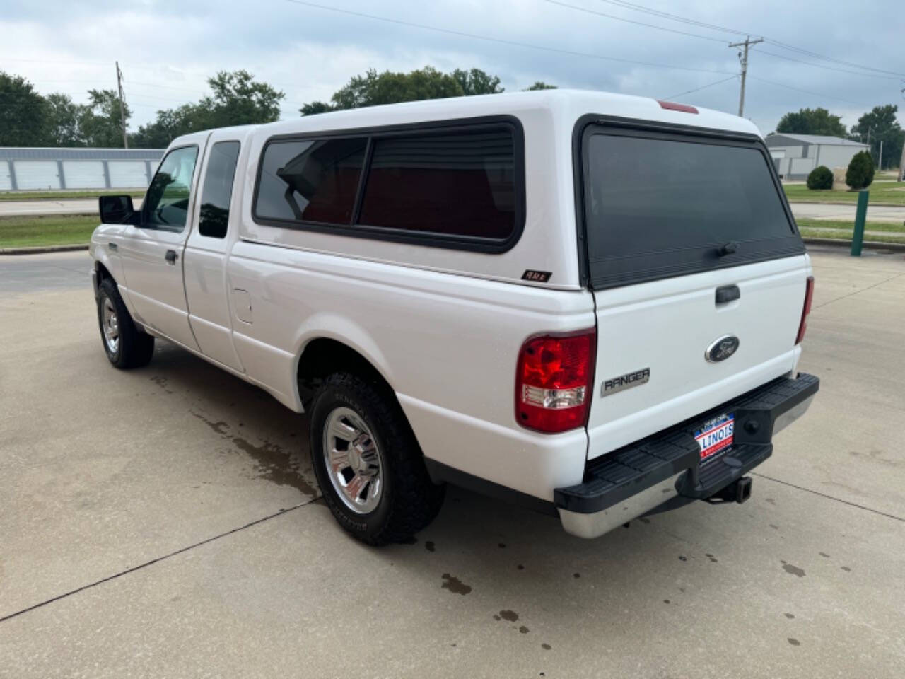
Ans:
[[[499,118],[273,139],[252,214],[286,228],[504,252],[525,221],[523,145],[518,122]]]

